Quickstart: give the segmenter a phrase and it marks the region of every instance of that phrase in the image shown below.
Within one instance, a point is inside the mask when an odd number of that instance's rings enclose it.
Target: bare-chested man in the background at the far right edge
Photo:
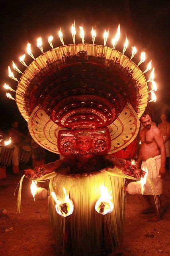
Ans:
[[[164,144],[166,148],[166,157],[168,158],[169,171],[170,171],[170,123],[167,121],[167,115],[161,114],[160,119],[162,123],[158,124],[158,128],[162,133]]]

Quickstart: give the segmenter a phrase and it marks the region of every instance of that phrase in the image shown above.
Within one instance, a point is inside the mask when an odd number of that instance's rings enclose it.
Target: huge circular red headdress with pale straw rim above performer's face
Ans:
[[[105,46],[107,38],[101,46],[94,44],[95,36],[93,44],[84,44],[81,37],[82,44],[75,44],[74,35],[74,44],[64,45],[60,34],[63,46],[53,48],[49,41],[52,49],[45,53],[40,40],[37,46],[42,55],[36,59],[28,44],[28,54],[34,60],[18,82],[16,103],[31,136],[43,148],[71,152],[75,130],[82,128],[90,129],[96,138],[95,147],[104,146],[107,140],[102,142],[102,138],[107,137],[109,129],[109,153],[113,153],[137,136],[139,118],[148,102],[147,82],[154,85],[154,70],[146,81],[138,67],[145,60],[144,52],[137,66],[131,60],[135,47],[129,59],[123,54],[127,46],[123,53],[114,49],[117,41],[112,40],[113,48],[109,48]],[[23,59],[20,62],[26,65]],[[14,69],[18,71],[16,65]],[[145,72],[148,70],[149,66]],[[11,73],[10,77],[14,79]]]

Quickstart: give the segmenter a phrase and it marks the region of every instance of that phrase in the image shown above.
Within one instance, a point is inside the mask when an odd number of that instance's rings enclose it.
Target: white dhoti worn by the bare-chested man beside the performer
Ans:
[[[155,187],[155,194],[161,195],[162,194],[162,179],[159,175],[161,165],[161,158],[159,156],[150,157],[147,161],[143,161],[141,165],[141,169],[145,170],[147,167],[148,176]],[[144,195],[153,195],[152,189],[150,187],[149,182],[147,181],[144,185]]]

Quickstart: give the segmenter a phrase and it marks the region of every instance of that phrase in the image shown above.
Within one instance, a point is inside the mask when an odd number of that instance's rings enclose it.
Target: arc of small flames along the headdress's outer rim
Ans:
[[[82,39],[82,43],[84,44],[84,29],[82,26],[79,26],[80,28],[80,38]],[[72,34],[72,39],[73,39],[73,43],[75,44],[75,40],[76,40],[76,26],[75,26],[75,22],[74,24],[72,24],[72,27],[71,27],[71,34]],[[92,31],[91,31],[91,34],[92,34],[92,42],[94,44],[95,42],[95,39],[96,39],[96,30],[94,30],[94,28],[92,28]],[[109,36],[109,30],[108,31],[104,31],[104,34],[103,34],[103,38],[104,38],[104,46],[106,46],[106,42],[107,42],[107,38]],[[115,49],[115,46],[119,40],[119,37],[120,37],[120,24],[117,28],[117,32],[115,34],[115,37],[111,40],[112,42],[112,45],[113,45],[113,49]],[[61,28],[59,30],[59,38],[62,42],[62,44],[64,45],[64,41],[63,41],[63,33],[61,32]],[[48,42],[51,46],[51,48],[53,49],[53,36],[49,36],[48,38]],[[44,51],[43,51],[43,45],[42,45],[42,38],[39,37],[37,39],[37,47],[41,50],[42,54],[44,54]],[[125,40],[125,44],[123,45],[123,51],[122,53],[124,54],[125,51],[127,50],[127,47],[128,47],[128,39],[126,38]],[[135,56],[135,54],[137,53],[137,48],[135,46],[132,47],[132,54],[131,54],[131,59]],[[27,43],[27,54],[29,56],[31,56],[31,58],[33,58],[33,60],[35,60],[32,52],[31,52],[31,44],[28,42]],[[20,62],[25,66],[27,67],[27,64],[24,62],[25,60],[25,56],[26,54],[23,54],[21,57],[20,57]],[[145,52],[141,52],[141,60],[139,61],[138,65],[139,66],[141,63],[143,63],[145,61],[145,58],[146,58],[146,53]],[[16,64],[14,63],[14,61],[12,61],[12,64],[13,64],[13,68],[15,71],[17,71],[18,73],[21,73],[23,74],[23,72],[21,72],[21,70],[16,66]],[[147,71],[151,70],[151,64],[152,64],[152,60],[148,63],[148,66],[146,68],[146,70],[143,72],[146,73]],[[12,78],[13,80],[18,81],[18,79],[14,76],[13,72],[11,71],[11,68],[10,66],[8,66],[8,76],[10,78]],[[156,88],[156,82],[154,81],[154,68],[152,68],[152,72],[150,74],[150,78],[149,80],[147,80],[147,82],[150,82],[152,84],[152,89],[149,91],[151,93],[151,97],[152,97],[152,100],[149,100],[149,102],[155,102],[156,101],[156,95],[155,95],[155,91],[157,90]],[[11,90],[12,92],[16,92],[15,90],[13,90],[8,84],[4,84],[4,88],[6,88],[7,90]],[[12,100],[15,100],[10,93],[7,93],[6,96]]]

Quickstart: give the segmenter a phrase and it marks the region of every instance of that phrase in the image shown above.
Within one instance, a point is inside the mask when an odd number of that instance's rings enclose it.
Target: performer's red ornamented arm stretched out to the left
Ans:
[[[62,160],[57,160],[55,162],[40,165],[39,167],[35,167],[35,169],[27,169],[24,171],[24,174],[27,178],[40,178],[45,174],[49,174],[51,172],[57,172],[60,167],[68,166],[68,161],[64,158]]]

